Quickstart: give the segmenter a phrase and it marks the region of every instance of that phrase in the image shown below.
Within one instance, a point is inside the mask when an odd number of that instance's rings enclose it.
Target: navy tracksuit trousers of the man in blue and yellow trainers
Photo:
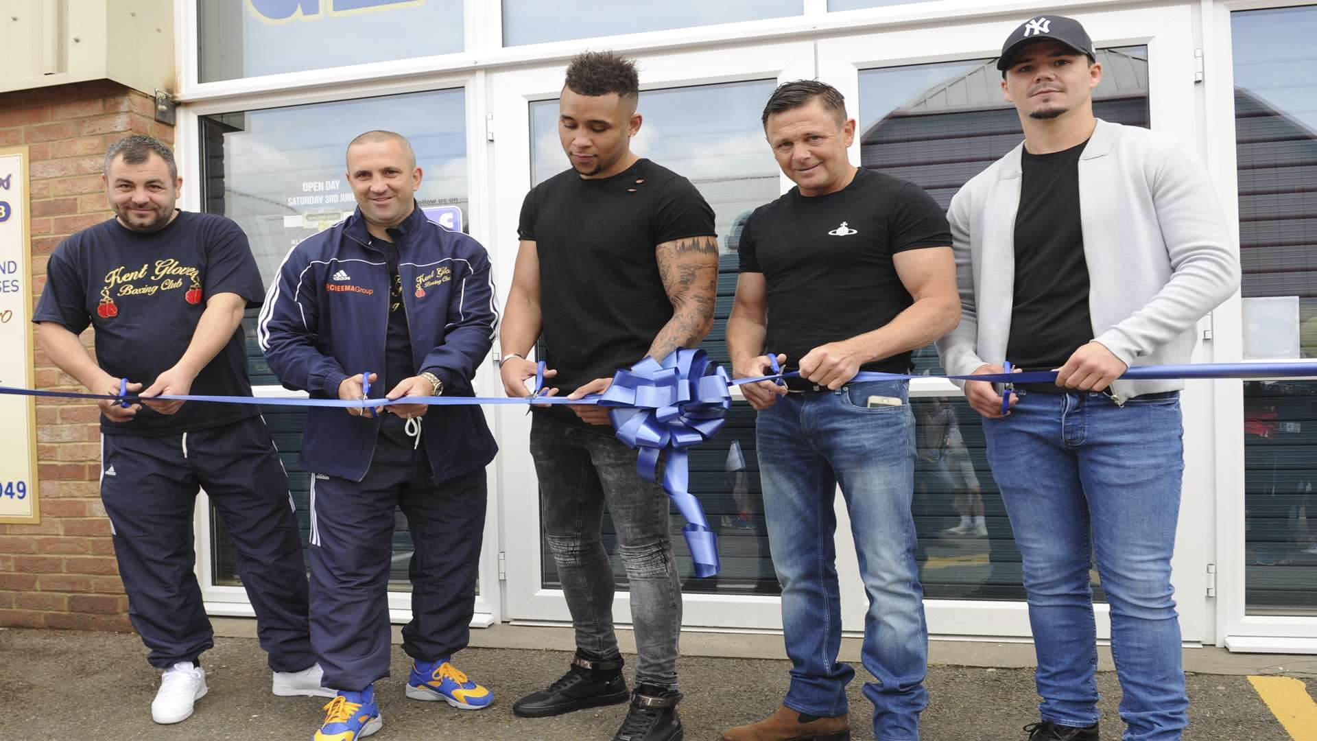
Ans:
[[[324,686],[361,691],[389,676],[389,570],[394,513],[411,531],[412,618],[403,650],[452,657],[470,638],[485,533],[485,469],[435,480],[424,446],[385,413],[361,481],[316,473],[311,484],[311,642]]]

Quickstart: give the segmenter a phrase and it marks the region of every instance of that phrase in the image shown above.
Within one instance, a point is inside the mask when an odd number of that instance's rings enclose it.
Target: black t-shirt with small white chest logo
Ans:
[[[764,349],[797,367],[818,345],[882,327],[914,303],[892,256],[950,247],[947,216],[919,186],[860,167],[851,185],[819,196],[786,195],[751,214],[740,237],[740,272],[764,273]],[[905,373],[910,353],[861,370]]]

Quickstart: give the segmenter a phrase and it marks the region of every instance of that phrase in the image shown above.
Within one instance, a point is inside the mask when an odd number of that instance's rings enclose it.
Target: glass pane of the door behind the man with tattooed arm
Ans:
[[[764,140],[759,116],[777,80],[753,80],[640,94],[644,124],[632,140],[632,150],[690,179],[716,215],[722,252],[718,268],[718,303],[714,328],[701,345],[710,357],[727,363],[727,316],[736,293],[736,244],[749,212],[777,198],[778,169]],[[558,144],[558,102],[531,103],[531,178],[539,185],[568,169]],[[716,152],[716,157],[709,157]],[[672,517],[673,548],[686,592],[769,593],[780,592],[764,530],[764,506],[755,458],[755,411],[744,401],[734,402],[727,426],[709,444],[690,456],[690,492],[705,506],[710,526],[718,533],[722,574],[695,579],[682,538],[685,522]],[[627,574],[616,552],[611,517],[605,518],[605,548],[612,560],[619,588]],[[548,543],[541,539],[543,583],[560,585]]]

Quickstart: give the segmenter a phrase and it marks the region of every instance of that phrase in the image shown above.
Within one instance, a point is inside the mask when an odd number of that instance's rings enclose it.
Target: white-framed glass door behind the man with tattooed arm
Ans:
[[[814,76],[813,44],[782,44],[735,51],[687,51],[639,59],[644,116],[636,153],[689,178],[716,214],[722,253],[715,324],[703,347],[727,360],[724,332],[736,286],[736,245],[749,212],[777,198],[784,179],[764,141],[760,112],[769,94],[790,79]],[[533,185],[568,167],[557,137],[557,98],[564,67],[495,73],[497,285],[507,290],[518,248],[516,219]],[[529,418],[499,407],[499,484],[506,537],[506,614],[518,621],[569,621],[553,558],[541,538],[539,494],[528,454]],[[719,535],[723,570],[697,579],[672,516],[673,545],[682,572],[685,622],[699,626],[781,628],[778,585],[768,552],[755,459],[753,411],[735,401],[724,430],[691,456],[691,492],[701,497]],[[839,527],[846,531],[848,525]],[[614,563],[614,617],[631,622],[626,571],[616,555],[611,521],[605,547]],[[853,548],[843,562],[852,563]],[[855,583],[857,579],[848,579]]]

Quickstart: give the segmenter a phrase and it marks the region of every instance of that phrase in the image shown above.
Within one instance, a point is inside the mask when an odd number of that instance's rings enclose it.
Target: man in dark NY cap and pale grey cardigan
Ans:
[[[1179,381],[1118,381],[1188,363],[1198,319],[1239,282],[1206,170],[1171,137],[1093,116],[1102,78],[1071,18],[1039,16],[997,67],[1025,142],[948,214],[960,326],[951,374],[1059,368],[1002,396],[965,385],[1023,559],[1040,723],[1030,741],[1097,741],[1096,555],[1123,690],[1125,741],[1180,738],[1188,695],[1171,588],[1184,469]]]

